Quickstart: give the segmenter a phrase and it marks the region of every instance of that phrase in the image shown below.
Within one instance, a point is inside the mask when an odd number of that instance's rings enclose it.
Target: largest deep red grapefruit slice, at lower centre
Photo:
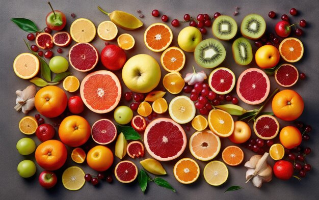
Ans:
[[[183,128],[168,118],[157,118],[146,127],[144,145],[156,160],[169,161],[180,156],[187,144]]]

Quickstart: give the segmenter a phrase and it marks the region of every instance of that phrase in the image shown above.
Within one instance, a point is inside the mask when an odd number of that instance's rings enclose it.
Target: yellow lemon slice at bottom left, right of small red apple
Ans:
[[[68,190],[79,190],[85,184],[85,173],[78,166],[71,166],[62,174],[62,184]]]

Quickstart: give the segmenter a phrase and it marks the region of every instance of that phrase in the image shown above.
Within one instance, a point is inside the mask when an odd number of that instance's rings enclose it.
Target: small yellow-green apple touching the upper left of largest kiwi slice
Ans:
[[[188,26],[183,28],[177,38],[178,45],[181,49],[187,52],[194,52],[195,47],[203,40],[200,31],[193,27]]]

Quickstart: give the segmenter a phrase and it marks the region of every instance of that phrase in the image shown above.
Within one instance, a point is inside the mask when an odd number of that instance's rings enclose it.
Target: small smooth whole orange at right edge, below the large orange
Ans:
[[[279,133],[281,144],[287,149],[293,149],[301,144],[302,135],[298,128],[286,126]]]

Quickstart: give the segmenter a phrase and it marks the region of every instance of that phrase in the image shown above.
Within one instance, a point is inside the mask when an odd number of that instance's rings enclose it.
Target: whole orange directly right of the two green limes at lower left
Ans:
[[[37,163],[45,170],[57,170],[61,168],[68,156],[65,145],[56,139],[42,142],[36,149]]]

